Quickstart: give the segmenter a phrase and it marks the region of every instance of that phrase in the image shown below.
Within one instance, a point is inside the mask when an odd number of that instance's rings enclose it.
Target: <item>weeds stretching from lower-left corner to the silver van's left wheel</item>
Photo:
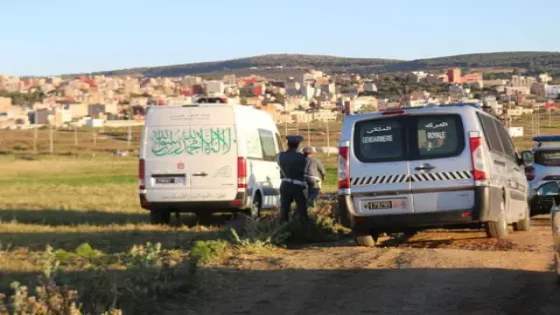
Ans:
[[[319,204],[309,215],[308,224],[281,224],[278,215],[247,218],[239,229],[229,230],[230,242],[198,241],[189,255],[162,249],[160,243],[135,245],[119,254],[103,253],[87,243],[71,252],[49,246],[41,256],[43,272],[34,295],[13,282],[10,295],[0,293],[0,315],[160,314],[170,299],[184,303],[197,285],[198,267],[223,255],[230,245],[234,250],[255,250],[339,236],[328,204]]]

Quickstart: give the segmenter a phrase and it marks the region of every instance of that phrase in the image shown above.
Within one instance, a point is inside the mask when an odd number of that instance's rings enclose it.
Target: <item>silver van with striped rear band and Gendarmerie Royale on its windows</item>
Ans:
[[[489,237],[509,224],[530,229],[523,160],[476,104],[346,116],[338,194],[339,220],[364,246],[436,227],[484,226]]]

